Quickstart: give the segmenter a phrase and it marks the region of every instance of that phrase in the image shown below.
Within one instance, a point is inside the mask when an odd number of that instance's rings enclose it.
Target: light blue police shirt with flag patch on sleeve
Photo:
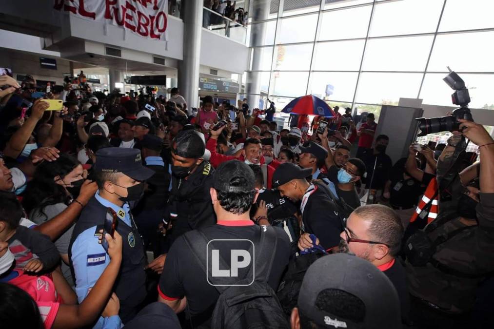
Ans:
[[[99,191],[94,195],[96,200],[106,207],[111,207],[125,224],[131,226],[130,207],[127,203],[119,207],[103,199]],[[99,277],[110,263],[110,256],[99,244],[98,236],[95,235],[96,226],[83,231],[72,245],[72,265],[76,274],[76,294],[79,303],[87,296],[88,289],[93,287]],[[121,328],[122,322],[118,315],[103,318],[100,317],[94,325],[94,329]]]

